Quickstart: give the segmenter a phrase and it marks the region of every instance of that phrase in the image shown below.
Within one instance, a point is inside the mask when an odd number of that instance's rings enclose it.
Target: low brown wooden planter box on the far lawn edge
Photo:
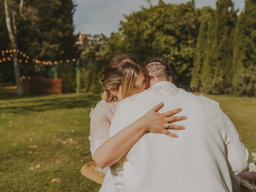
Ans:
[[[23,94],[61,94],[61,79],[21,77]]]

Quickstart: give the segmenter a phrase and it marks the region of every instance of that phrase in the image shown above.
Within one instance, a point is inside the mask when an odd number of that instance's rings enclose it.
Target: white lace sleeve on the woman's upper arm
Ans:
[[[104,101],[99,101],[94,108],[90,123],[90,150],[92,159],[95,150],[109,139],[110,121],[108,119],[109,107]]]

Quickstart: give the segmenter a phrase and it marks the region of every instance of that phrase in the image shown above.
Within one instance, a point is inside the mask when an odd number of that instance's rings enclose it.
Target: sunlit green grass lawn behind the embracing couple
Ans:
[[[256,98],[209,97],[220,102],[249,152],[256,152]],[[80,168],[92,160],[89,113],[98,100],[98,94],[20,98],[0,92],[0,191],[97,192],[100,185]]]

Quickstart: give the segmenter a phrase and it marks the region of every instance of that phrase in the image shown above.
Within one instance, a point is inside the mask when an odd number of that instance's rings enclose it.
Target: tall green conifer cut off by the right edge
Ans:
[[[234,38],[233,92],[256,96],[256,0],[246,0]]]

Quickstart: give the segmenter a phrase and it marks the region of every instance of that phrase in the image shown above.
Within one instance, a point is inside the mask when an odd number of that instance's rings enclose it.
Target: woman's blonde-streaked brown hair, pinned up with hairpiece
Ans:
[[[128,53],[117,53],[110,56],[104,63],[99,76],[104,91],[102,100],[114,101],[114,95],[108,88],[114,88],[118,91],[120,86],[122,86],[123,98],[131,96],[140,71],[147,76],[148,70],[143,65],[138,64],[134,56]]]

